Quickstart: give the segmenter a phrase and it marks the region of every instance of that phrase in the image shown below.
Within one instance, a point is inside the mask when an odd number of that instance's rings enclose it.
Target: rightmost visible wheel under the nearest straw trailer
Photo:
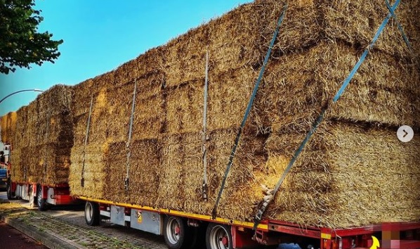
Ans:
[[[211,223],[206,231],[207,249],[232,249],[230,226]]]

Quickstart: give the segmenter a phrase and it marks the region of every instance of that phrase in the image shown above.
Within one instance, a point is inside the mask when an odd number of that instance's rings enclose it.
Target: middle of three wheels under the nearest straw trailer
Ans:
[[[189,249],[192,234],[185,219],[167,216],[164,219],[164,239],[169,249]]]

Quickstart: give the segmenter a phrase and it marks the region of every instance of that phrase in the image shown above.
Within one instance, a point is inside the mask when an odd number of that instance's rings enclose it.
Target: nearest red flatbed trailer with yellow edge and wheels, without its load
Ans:
[[[369,249],[379,239],[377,248],[420,248],[420,222],[390,222],[346,229],[299,226],[278,220],[263,220],[253,230],[253,222],[157,209],[127,203],[114,203],[78,196],[85,200],[86,224],[96,226],[102,219],[164,236],[168,248],[230,249],[258,248],[296,243],[300,248]],[[201,243],[201,245],[200,245]]]

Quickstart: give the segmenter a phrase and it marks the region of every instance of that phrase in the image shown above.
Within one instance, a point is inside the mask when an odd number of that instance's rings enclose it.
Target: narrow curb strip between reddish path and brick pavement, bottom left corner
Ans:
[[[51,249],[74,249],[74,248],[84,248],[81,245],[77,245],[76,243],[68,240],[67,238],[63,238],[58,234],[54,234],[51,231],[37,231],[36,228],[28,227],[22,225],[20,222],[16,222],[14,219],[9,219],[8,217],[1,216],[1,220],[13,226],[13,228],[21,231],[23,234],[33,238],[35,241],[41,241],[42,245],[45,245]]]

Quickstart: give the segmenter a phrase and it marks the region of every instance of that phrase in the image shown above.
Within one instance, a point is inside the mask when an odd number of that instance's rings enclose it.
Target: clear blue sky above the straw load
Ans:
[[[207,23],[251,0],[37,0],[35,9],[53,39],[63,39],[60,58],[0,75],[0,98],[22,89],[46,90],[54,84],[74,85],[166,44],[193,27]],[[37,97],[26,91],[0,103],[0,116]]]

